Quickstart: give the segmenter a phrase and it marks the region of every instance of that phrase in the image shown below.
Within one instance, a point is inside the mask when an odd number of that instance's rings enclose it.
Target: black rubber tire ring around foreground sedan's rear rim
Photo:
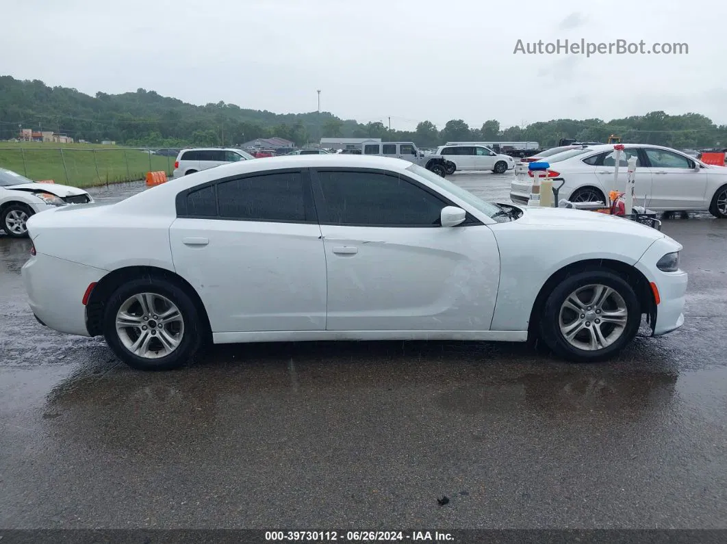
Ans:
[[[124,301],[139,293],[157,293],[165,296],[176,304],[182,313],[185,328],[182,342],[174,352],[166,355],[166,357],[145,359],[132,354],[121,343],[119,335],[116,333],[116,312],[119,311],[119,307],[121,307],[121,304],[124,304]],[[174,283],[158,280],[153,277],[132,280],[121,285],[121,287],[114,291],[106,304],[103,318],[103,333],[111,351],[120,360],[137,370],[171,370],[173,368],[179,368],[199,349],[204,336],[196,307],[187,293]]]

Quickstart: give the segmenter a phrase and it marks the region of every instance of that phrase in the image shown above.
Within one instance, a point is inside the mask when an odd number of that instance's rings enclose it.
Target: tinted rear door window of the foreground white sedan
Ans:
[[[297,172],[217,184],[220,216],[256,221],[305,221],[305,184]]]

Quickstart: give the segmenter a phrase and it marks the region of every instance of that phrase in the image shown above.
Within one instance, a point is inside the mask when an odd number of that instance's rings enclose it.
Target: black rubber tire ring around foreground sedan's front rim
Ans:
[[[561,305],[566,297],[577,288],[590,283],[600,283],[616,290],[626,303],[628,320],[621,337],[605,349],[598,352],[588,352],[578,349],[566,341],[558,326],[558,317]],[[566,277],[548,296],[540,317],[540,334],[545,343],[553,352],[571,362],[598,362],[608,359],[620,352],[636,336],[641,322],[641,308],[636,293],[631,286],[619,275],[606,270],[590,270],[578,272]]]

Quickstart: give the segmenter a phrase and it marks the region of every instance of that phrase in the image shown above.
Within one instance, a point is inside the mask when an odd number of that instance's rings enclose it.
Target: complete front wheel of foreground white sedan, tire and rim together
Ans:
[[[593,269],[566,277],[553,289],[541,314],[540,335],[563,359],[598,362],[629,344],[640,322],[641,308],[632,287],[610,270]]]

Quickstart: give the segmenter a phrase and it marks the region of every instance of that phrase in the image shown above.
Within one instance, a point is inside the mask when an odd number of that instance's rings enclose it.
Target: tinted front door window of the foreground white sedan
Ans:
[[[442,200],[394,174],[318,172],[332,224],[431,227],[438,224]]]

